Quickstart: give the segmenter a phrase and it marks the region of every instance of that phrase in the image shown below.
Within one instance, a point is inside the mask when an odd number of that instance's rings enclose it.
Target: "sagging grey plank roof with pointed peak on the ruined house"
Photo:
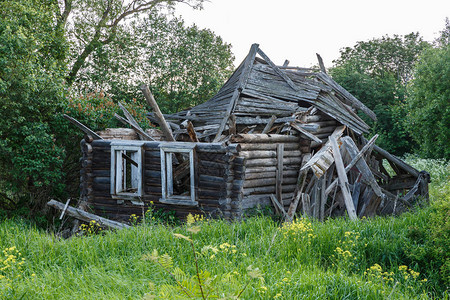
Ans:
[[[203,132],[202,136],[215,135],[216,141],[232,114],[238,125],[263,124],[264,117],[275,115],[282,120],[308,106],[316,107],[358,134],[368,132],[370,127],[356,110],[376,120],[373,111],[326,74],[323,64],[321,71],[276,66],[258,44],[251,46],[247,57],[214,97],[166,118],[178,124],[189,120],[197,132]]]

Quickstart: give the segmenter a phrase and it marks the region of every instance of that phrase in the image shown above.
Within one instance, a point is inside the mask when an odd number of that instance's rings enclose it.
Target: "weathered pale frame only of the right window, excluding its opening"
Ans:
[[[170,144],[161,144],[161,199],[162,203],[198,206],[197,202],[197,181],[195,172],[195,147],[194,143],[172,142]],[[189,176],[190,176],[190,195],[180,196],[173,195],[173,169],[172,154],[188,153],[189,154]]]

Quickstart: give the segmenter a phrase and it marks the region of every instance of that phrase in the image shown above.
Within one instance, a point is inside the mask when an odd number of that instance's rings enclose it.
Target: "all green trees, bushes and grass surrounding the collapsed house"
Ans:
[[[230,45],[174,18],[176,2],[203,1],[0,2],[0,298],[448,298],[448,20],[434,43],[418,33],[361,41],[330,70],[376,112],[381,146],[415,153],[406,159],[431,173],[430,206],[292,225],[258,212],[167,226],[150,211],[131,229],[85,224],[84,236],[54,235],[64,224],[49,222],[44,203],[79,194],[82,134],[62,113],[100,130],[119,125],[120,101],[148,128],[141,83],[173,112],[207,100],[229,76]]]

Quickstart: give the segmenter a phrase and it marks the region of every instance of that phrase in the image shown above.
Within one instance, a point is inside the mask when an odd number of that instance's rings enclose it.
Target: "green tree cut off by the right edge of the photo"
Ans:
[[[450,23],[420,57],[406,100],[405,123],[421,154],[450,159]]]

